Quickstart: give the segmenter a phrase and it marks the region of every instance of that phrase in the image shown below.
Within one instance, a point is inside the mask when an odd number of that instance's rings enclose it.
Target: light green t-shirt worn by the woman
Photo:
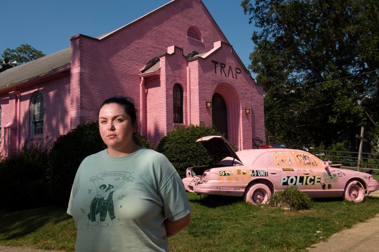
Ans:
[[[75,250],[168,251],[163,221],[191,211],[183,182],[160,153],[88,156],[76,173],[67,213],[78,230]]]

